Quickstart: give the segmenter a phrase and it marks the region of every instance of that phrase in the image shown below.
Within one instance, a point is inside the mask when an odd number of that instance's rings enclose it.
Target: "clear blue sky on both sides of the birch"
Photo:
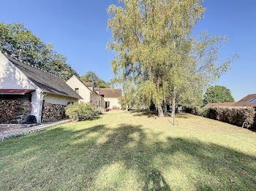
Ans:
[[[1,0],[0,22],[24,23],[26,28],[54,49],[67,56],[80,75],[94,71],[108,81],[113,77],[106,50],[111,39],[107,31],[109,4],[117,0]],[[239,58],[214,85],[230,88],[238,101],[256,93],[256,1],[206,0],[206,14],[195,34],[207,30],[211,35],[227,35],[229,42],[220,54],[222,61],[238,53]]]

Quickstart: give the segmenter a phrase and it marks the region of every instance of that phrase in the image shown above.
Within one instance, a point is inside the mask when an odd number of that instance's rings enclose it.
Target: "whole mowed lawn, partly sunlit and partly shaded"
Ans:
[[[112,112],[0,142],[0,190],[256,190],[256,133]]]

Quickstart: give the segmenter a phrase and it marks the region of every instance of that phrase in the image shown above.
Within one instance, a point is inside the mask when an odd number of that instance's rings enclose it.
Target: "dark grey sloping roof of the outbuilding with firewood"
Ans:
[[[62,95],[71,98],[81,99],[80,95],[75,93],[66,82],[56,75],[50,74],[47,71],[31,66],[27,63],[16,60],[10,55],[4,56],[11,61],[23,74],[26,75],[35,85],[37,85],[43,92],[55,95]]]

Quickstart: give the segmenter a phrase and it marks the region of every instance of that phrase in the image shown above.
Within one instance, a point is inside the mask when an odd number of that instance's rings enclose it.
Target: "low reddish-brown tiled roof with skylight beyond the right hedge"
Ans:
[[[204,107],[222,107],[222,106],[256,106],[256,93],[246,95],[238,102],[225,102],[225,103],[208,103]]]

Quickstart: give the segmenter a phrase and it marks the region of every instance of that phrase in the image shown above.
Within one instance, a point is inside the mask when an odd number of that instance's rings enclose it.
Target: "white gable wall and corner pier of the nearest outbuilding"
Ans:
[[[31,97],[31,115],[39,120],[41,90],[0,52],[0,88],[35,89]]]

